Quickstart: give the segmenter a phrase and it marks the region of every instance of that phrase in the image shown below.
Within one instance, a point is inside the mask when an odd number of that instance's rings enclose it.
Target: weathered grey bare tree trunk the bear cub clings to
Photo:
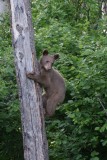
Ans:
[[[33,27],[29,0],[10,0],[15,66],[21,101],[21,120],[25,160],[48,160],[41,90],[26,77],[39,74],[35,58]]]

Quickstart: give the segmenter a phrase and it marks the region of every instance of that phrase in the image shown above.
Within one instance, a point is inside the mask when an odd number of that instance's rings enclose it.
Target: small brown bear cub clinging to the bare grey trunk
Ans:
[[[55,60],[59,58],[58,54],[48,55],[48,51],[44,50],[40,59],[40,75],[28,73],[27,77],[40,83],[45,93],[43,94],[43,107],[47,116],[55,113],[57,105],[63,102],[65,98],[65,82],[60,73],[52,68]]]

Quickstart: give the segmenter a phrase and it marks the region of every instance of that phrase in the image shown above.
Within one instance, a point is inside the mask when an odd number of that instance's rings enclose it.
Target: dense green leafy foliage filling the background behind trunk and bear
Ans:
[[[32,0],[35,44],[57,52],[66,98],[46,120],[50,160],[107,160],[107,17],[100,0]],[[23,160],[9,17],[0,18],[0,160]]]

